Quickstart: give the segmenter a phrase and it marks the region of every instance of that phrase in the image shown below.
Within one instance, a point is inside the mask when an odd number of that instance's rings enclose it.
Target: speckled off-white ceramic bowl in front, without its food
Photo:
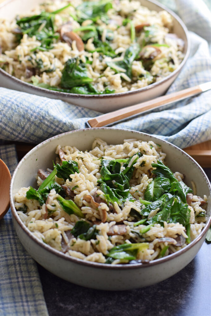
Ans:
[[[168,257],[157,259],[145,264],[101,264],[83,261],[54,250],[37,239],[23,224],[14,205],[14,194],[21,187],[36,187],[39,168],[47,168],[55,161],[55,149],[61,146],[76,146],[79,150],[91,149],[95,137],[100,137],[108,144],[120,144],[124,139],[136,138],[153,141],[162,145],[167,154],[166,161],[173,172],[185,174],[185,182],[191,185],[194,181],[197,194],[208,197],[208,220],[202,233],[188,246]],[[205,240],[210,226],[210,192],[211,187],[202,168],[185,152],[176,146],[148,134],[112,129],[95,128],[67,132],[52,137],[32,149],[18,164],[10,185],[10,204],[16,233],[27,252],[44,268],[55,275],[90,288],[104,290],[135,289],[160,282],[183,269],[196,255]]]

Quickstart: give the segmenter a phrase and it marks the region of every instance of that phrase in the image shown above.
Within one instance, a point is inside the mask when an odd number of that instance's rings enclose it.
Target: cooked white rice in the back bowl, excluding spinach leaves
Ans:
[[[53,12],[70,3],[69,1],[54,1],[40,4],[29,13],[18,16],[38,15],[41,11]],[[81,26],[89,26],[92,21],[85,20],[81,24],[74,20],[77,15],[77,7],[83,3],[81,0],[72,0],[71,6],[55,15],[55,28],[65,23],[71,23],[72,29]],[[113,0],[112,8],[108,10],[108,22],[101,19],[95,22],[95,26],[102,28],[102,43],[106,40],[106,34],[113,32],[113,40],[109,44],[115,52],[115,57],[107,56],[96,51],[93,38],[84,41],[84,49],[79,51],[75,40],[71,45],[62,41],[60,36],[53,43],[53,48],[47,51],[39,49],[31,51],[41,45],[35,36],[29,37],[25,33],[18,44],[16,40],[16,20],[11,22],[0,21],[0,67],[22,81],[39,84],[47,84],[51,87],[61,88],[61,77],[65,62],[70,58],[80,58],[86,64],[88,77],[97,91],[102,93],[105,88],[114,90],[115,93],[126,92],[145,87],[157,82],[176,70],[183,60],[183,41],[172,34],[172,17],[166,11],[150,11],[141,6],[139,1]],[[131,25],[122,25],[125,18],[133,23],[133,27],[142,25],[142,29],[136,32],[136,38],[131,38]],[[124,23],[123,23],[124,24]],[[93,25],[93,24],[92,24]],[[153,32],[152,32],[153,31]],[[150,40],[143,44],[146,32],[150,33]],[[83,31],[76,31],[83,37]],[[173,35],[173,36],[172,36]],[[116,66],[116,71],[107,65],[107,62],[123,61],[125,51],[134,42],[141,46],[141,58],[136,58],[132,63],[132,77],[129,78],[125,69]],[[144,46],[144,47],[142,47]],[[1,54],[2,51],[2,54]],[[150,68],[146,66],[151,63]]]

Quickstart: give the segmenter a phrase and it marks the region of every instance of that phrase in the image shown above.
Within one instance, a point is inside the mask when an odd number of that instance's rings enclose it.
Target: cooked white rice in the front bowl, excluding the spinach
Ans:
[[[139,198],[144,199],[146,187],[152,181],[152,163],[157,163],[158,159],[164,162],[166,155],[162,152],[162,148],[158,144],[152,141],[147,143],[136,139],[126,139],[123,144],[119,145],[108,145],[101,139],[96,138],[92,149],[84,152],[78,150],[76,147],[67,145],[64,147],[58,146],[56,154],[59,154],[59,149],[65,153],[63,158],[66,161],[72,160],[78,163],[79,173],[71,174],[71,181],[67,179],[66,186],[74,192],[74,202],[80,207],[84,214],[84,219],[74,214],[68,215],[56,199],[58,194],[54,189],[48,195],[47,205],[43,204],[40,207],[38,201],[26,198],[26,192],[29,188],[21,188],[15,194],[17,213],[30,232],[54,249],[63,251],[66,255],[75,258],[105,263],[106,255],[111,248],[123,243],[131,243],[131,238],[137,238],[136,232],[139,233],[140,229],[146,227],[144,224],[134,226],[134,222],[136,221],[130,215],[130,211],[131,208],[140,211],[141,204]],[[137,152],[141,152],[143,156],[135,162],[135,169],[130,180],[130,193],[135,201],[127,201],[123,207],[120,207],[115,202],[114,208],[110,210],[107,202],[104,200],[103,192],[99,189],[99,184],[97,183],[97,180],[101,177],[101,159],[99,158],[102,156],[109,160],[129,158]],[[145,163],[142,163],[143,161]],[[57,162],[61,163],[59,158],[57,158]],[[183,179],[183,174],[181,173],[177,172],[174,176],[179,181]],[[37,178],[38,185],[40,185],[43,180],[40,177]],[[59,184],[64,184],[63,179],[56,177],[56,181]],[[105,201],[105,203],[101,202],[96,206],[93,199],[87,200],[87,195],[93,196],[94,193],[102,197],[102,201]],[[206,196],[203,199],[205,202],[207,201]],[[25,214],[20,211],[24,207],[27,207]],[[45,216],[46,207],[48,210],[47,217]],[[193,240],[201,233],[205,226],[206,217],[196,217],[200,212],[205,212],[204,206],[200,206],[199,197],[196,195],[193,196],[189,209],[190,236],[191,240]],[[49,211],[52,212],[49,213]],[[157,211],[155,210],[155,213]],[[155,213],[150,214],[149,218],[154,216]],[[106,217],[104,218],[105,215]],[[71,236],[71,239],[68,237],[68,232],[70,233],[75,223],[81,220],[89,222],[91,226],[96,223],[98,233],[95,239],[82,240],[74,236]],[[124,227],[126,227],[123,235],[118,234],[118,224],[124,224]],[[112,236],[108,235],[109,229],[113,229],[114,234]],[[148,246],[138,252],[137,259],[154,260],[159,258],[162,249],[168,245],[166,238],[175,239],[178,235],[181,238],[187,238],[186,229],[182,224],[167,222],[164,222],[164,226],[154,224],[154,226],[142,235]],[[164,240],[162,241],[161,238],[164,238]],[[65,250],[62,248],[62,244],[64,243],[66,245]],[[175,244],[173,241],[169,245],[164,256],[176,252],[187,245],[187,243],[184,243],[182,246],[175,246]],[[127,262],[128,260],[116,259],[112,264]]]

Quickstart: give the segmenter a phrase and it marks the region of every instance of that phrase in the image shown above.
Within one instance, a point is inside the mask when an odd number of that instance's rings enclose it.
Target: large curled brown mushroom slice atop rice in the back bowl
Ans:
[[[78,34],[72,31],[72,25],[71,22],[65,23],[60,28],[60,35],[61,38],[69,45],[71,46],[72,42],[76,41],[76,47],[78,48],[78,51],[84,50],[84,43],[83,40],[80,38]]]

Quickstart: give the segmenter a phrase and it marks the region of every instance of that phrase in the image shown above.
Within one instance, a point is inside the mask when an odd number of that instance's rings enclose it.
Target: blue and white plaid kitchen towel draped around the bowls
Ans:
[[[202,0],[162,2],[180,15],[191,40],[189,59],[167,93],[210,81],[210,11],[206,4]],[[40,143],[53,135],[85,128],[87,119],[99,114],[64,101],[0,88],[0,158],[12,173],[16,150],[3,143]],[[210,114],[207,91],[113,126],[154,134],[184,148],[210,139]],[[0,315],[48,314],[36,264],[17,240],[10,210],[0,221],[0,276]]]

